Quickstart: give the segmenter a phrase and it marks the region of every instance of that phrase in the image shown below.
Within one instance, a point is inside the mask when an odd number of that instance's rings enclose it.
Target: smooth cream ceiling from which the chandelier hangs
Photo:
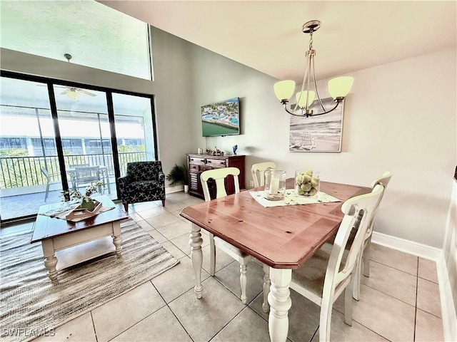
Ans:
[[[456,46],[456,1],[99,1],[278,79],[323,79]]]

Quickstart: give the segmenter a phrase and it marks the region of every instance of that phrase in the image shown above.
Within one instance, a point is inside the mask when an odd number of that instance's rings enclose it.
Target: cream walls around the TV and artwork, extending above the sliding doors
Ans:
[[[4,49],[1,67],[46,75],[42,64],[54,78],[155,94],[165,172],[198,147],[231,152],[234,144],[238,155],[247,155],[247,169],[274,160],[288,175],[309,166],[321,170],[324,180],[366,186],[390,170],[375,230],[443,247],[457,164],[455,48],[353,73],[342,152],[288,152],[289,117],[273,94],[274,78],[156,28],[152,37],[154,82],[79,66],[69,70],[66,62]],[[202,138],[200,106],[235,96],[241,98],[242,134]]]

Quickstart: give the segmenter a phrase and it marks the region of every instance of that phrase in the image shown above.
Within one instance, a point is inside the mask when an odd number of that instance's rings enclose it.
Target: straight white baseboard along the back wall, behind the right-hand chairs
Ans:
[[[416,257],[421,257],[431,261],[438,261],[442,251],[442,249],[427,246],[426,244],[419,244],[418,242],[413,242],[378,232],[373,232],[371,242],[373,242],[373,244],[381,244],[381,246],[396,249],[408,254],[413,254],[416,255]]]

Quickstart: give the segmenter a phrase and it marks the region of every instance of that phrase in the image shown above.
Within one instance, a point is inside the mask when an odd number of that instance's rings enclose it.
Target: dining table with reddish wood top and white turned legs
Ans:
[[[286,192],[293,192],[294,178],[286,180]],[[220,237],[234,247],[269,266],[270,293],[268,331],[273,342],[286,341],[288,310],[291,308],[289,284],[293,269],[333,237],[341,221],[341,205],[346,199],[371,192],[371,188],[336,182],[320,182],[322,194],[335,197],[336,202],[316,202],[264,207],[256,196],[263,187],[194,204],[181,210],[181,217],[191,223],[189,245],[194,269],[194,292],[203,295],[201,284],[201,229]]]

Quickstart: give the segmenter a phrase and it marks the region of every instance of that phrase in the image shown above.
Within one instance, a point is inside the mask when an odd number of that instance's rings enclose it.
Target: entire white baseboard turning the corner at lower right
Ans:
[[[373,232],[371,242],[373,242],[373,244],[381,244],[381,246],[396,249],[401,252],[416,255],[416,257],[436,262],[444,339],[445,341],[450,342],[456,341],[457,313],[455,307],[453,306],[451,283],[449,281],[448,269],[446,267],[443,249],[430,247],[425,244],[419,244],[417,242],[378,232]]]

